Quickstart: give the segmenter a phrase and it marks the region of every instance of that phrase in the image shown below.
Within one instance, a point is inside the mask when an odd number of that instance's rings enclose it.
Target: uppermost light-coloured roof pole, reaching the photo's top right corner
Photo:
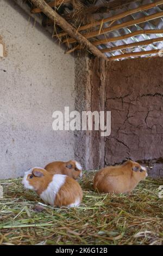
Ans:
[[[84,30],[89,29],[91,27],[95,27],[95,26],[98,26],[98,25],[103,25],[106,22],[120,20],[120,19],[122,19],[122,18],[124,18],[128,15],[138,13],[139,11],[148,10],[148,9],[151,9],[151,8],[156,7],[158,5],[161,5],[161,4],[163,4],[163,0],[159,0],[159,1],[156,1],[154,3],[145,4],[145,5],[142,5],[140,7],[137,7],[137,8],[128,10],[128,11],[124,11],[123,13],[108,17],[106,19],[103,19],[103,20],[100,20],[100,21],[95,21],[93,23],[81,26],[81,27],[79,27],[78,31],[84,31]],[[62,32],[62,33],[58,34],[59,37],[60,36],[65,36],[65,35],[67,35],[65,32]]]

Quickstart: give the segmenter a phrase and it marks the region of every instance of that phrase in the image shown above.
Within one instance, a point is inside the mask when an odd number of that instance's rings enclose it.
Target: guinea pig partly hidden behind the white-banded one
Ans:
[[[52,162],[48,163],[45,169],[52,174],[64,174],[73,179],[82,178],[82,166],[74,160],[68,162]]]

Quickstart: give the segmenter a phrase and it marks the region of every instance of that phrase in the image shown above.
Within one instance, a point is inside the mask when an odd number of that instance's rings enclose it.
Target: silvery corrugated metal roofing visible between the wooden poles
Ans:
[[[101,2],[104,3],[104,2],[107,2],[107,1],[99,0],[97,2],[97,4],[101,4]],[[145,1],[137,1],[137,2],[129,4],[126,7],[123,7],[121,10],[120,9],[112,10],[112,11],[110,11],[109,14],[105,13],[103,15],[103,17],[104,18],[111,17],[111,16],[114,16],[116,14],[123,13],[124,11],[131,10],[131,9],[137,8],[141,5],[149,4],[149,3],[153,3],[153,1],[146,1],[146,0]],[[123,19],[120,19],[120,20],[116,21],[114,23],[114,25],[120,24],[122,22],[130,21],[130,20],[139,19],[141,17],[148,16],[148,15],[151,15],[151,14],[159,13],[162,10],[163,10],[163,5],[159,5],[158,7],[154,7],[152,9],[149,9],[149,10],[146,10],[146,11],[140,11],[139,13],[128,15],[127,17],[124,17]],[[109,26],[109,23],[104,24],[104,27],[108,27],[108,26]],[[112,32],[109,32],[105,35],[99,35],[99,36],[97,36],[97,38],[98,39],[112,38],[113,36],[125,35],[125,34],[131,33],[131,32],[139,31],[141,29],[163,29],[162,18],[158,18],[158,19],[155,19],[155,20],[152,20],[152,21],[147,21],[147,22],[141,23],[140,25],[134,25],[134,26],[130,26],[130,27],[127,27],[127,28],[118,29],[117,31],[112,31]],[[115,41],[115,42],[108,42],[107,44],[99,45],[97,47],[99,49],[109,48],[109,47],[120,46],[120,45],[124,45],[124,44],[130,44],[132,42],[139,42],[139,41],[143,41],[143,40],[159,38],[161,36],[163,36],[163,34],[136,35],[136,36],[132,36],[131,38],[128,38],[128,39],[118,40],[118,41]],[[147,46],[139,46],[139,47],[134,47],[134,48],[128,48],[127,50],[118,50],[118,51],[109,52],[109,53],[105,53],[105,54],[106,54],[107,57],[112,57],[112,56],[116,56],[118,54],[122,54],[124,52],[150,51],[150,50],[156,50],[156,49],[162,49],[162,48],[163,48],[163,41],[162,42],[154,42],[153,44],[150,44],[150,45],[147,45]],[[151,56],[155,56],[155,55],[156,54],[152,54]],[[147,56],[141,56],[141,57],[147,57]],[[133,58],[135,58],[135,57],[133,57]]]

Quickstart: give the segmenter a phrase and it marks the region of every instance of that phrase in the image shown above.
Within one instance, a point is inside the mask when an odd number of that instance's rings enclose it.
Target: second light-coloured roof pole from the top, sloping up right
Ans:
[[[91,33],[84,33],[83,36],[85,36],[85,38],[92,38],[94,36],[106,34],[108,32],[115,31],[115,30],[120,29],[120,28],[126,28],[126,27],[130,27],[130,26],[133,26],[133,25],[136,25],[136,24],[146,22],[146,21],[154,20],[154,19],[160,18],[162,16],[163,16],[163,11],[160,11],[159,13],[148,15],[148,16],[142,17],[140,19],[123,22],[121,24],[118,24],[118,25],[115,25],[115,26],[112,26],[112,27],[101,29],[101,31],[97,30],[97,31],[94,31],[94,32],[91,32]],[[65,42],[65,41],[67,41],[67,40],[64,40],[63,42]],[[70,39],[68,39],[68,42],[70,44],[72,44],[73,42],[76,42],[76,40],[70,38]]]

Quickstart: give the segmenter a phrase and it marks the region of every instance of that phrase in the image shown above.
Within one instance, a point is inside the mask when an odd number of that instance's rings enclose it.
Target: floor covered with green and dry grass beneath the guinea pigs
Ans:
[[[21,179],[1,180],[0,244],[162,245],[163,180],[148,178],[130,194],[98,194],[93,175],[80,180],[83,203],[72,209],[39,204]]]

